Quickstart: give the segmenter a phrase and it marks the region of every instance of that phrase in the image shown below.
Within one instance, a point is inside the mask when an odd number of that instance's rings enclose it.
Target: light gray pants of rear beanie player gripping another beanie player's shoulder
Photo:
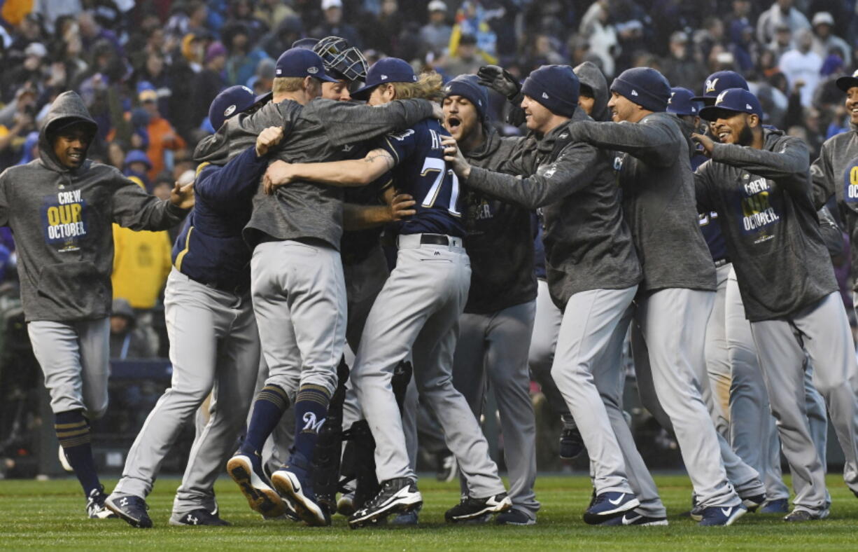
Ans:
[[[731,507],[741,500],[728,480],[723,447],[699,391],[706,378],[706,324],[715,295],[686,288],[644,294],[635,312],[643,340],[632,339],[632,347],[647,346],[649,363],[635,362],[641,399],[649,409],[657,397],[668,416],[698,504]]]

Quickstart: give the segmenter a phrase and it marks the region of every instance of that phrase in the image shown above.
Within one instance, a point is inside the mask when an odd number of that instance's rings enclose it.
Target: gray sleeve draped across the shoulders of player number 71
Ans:
[[[405,129],[432,117],[429,100],[395,100],[384,106],[367,106],[348,101],[319,102],[317,114],[325,136],[334,146],[364,142],[393,130]]]

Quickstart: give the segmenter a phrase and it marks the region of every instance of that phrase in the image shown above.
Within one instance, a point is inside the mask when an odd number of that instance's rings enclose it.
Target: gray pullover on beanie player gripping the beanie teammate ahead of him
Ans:
[[[644,268],[641,291],[688,288],[714,291],[715,264],[700,234],[688,139],[670,113],[635,123],[581,121],[572,137],[621,153],[623,214]]]

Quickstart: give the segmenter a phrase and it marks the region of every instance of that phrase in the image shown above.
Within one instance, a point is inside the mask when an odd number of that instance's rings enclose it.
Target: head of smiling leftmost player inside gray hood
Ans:
[[[72,91],[59,94],[39,128],[42,163],[58,172],[82,167],[98,130],[81,96]]]

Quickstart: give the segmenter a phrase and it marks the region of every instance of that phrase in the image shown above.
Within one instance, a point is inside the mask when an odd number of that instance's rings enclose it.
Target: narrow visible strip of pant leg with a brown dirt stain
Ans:
[[[722,264],[716,268],[717,289],[715,304],[706,325],[706,373],[709,385],[702,389],[703,400],[709,408],[715,430],[725,439],[730,433],[730,355],[727,345],[727,280],[732,264]]]

